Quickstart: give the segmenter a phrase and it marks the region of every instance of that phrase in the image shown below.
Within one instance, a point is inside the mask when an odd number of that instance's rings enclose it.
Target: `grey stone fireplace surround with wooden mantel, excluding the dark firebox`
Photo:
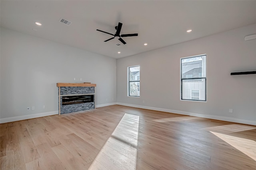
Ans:
[[[59,96],[59,115],[95,108],[95,87],[91,83],[57,83]],[[63,96],[94,95],[94,101],[88,103],[62,105]]]

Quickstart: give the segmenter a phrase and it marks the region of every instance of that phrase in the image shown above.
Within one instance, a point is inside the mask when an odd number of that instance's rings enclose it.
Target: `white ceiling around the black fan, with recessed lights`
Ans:
[[[254,24],[256,1],[1,0],[0,14],[4,28],[122,58]],[[125,45],[117,39],[104,42],[112,36],[96,29],[114,34],[118,22],[121,34],[138,37],[124,37]]]

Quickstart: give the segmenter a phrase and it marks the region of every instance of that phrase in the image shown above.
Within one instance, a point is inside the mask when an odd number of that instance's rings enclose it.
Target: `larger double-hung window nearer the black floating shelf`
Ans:
[[[181,100],[206,101],[206,55],[180,59]]]

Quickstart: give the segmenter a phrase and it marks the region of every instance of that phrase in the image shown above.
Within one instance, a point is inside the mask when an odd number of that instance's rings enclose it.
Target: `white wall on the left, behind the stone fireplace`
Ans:
[[[57,82],[96,83],[96,106],[116,102],[116,59],[6,28],[0,31],[1,122],[58,113]],[[35,110],[27,111],[27,106]]]

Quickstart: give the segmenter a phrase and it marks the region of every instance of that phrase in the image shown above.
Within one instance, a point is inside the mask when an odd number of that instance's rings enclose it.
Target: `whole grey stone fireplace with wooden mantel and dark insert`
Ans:
[[[95,108],[95,87],[91,83],[57,83],[59,115]]]

